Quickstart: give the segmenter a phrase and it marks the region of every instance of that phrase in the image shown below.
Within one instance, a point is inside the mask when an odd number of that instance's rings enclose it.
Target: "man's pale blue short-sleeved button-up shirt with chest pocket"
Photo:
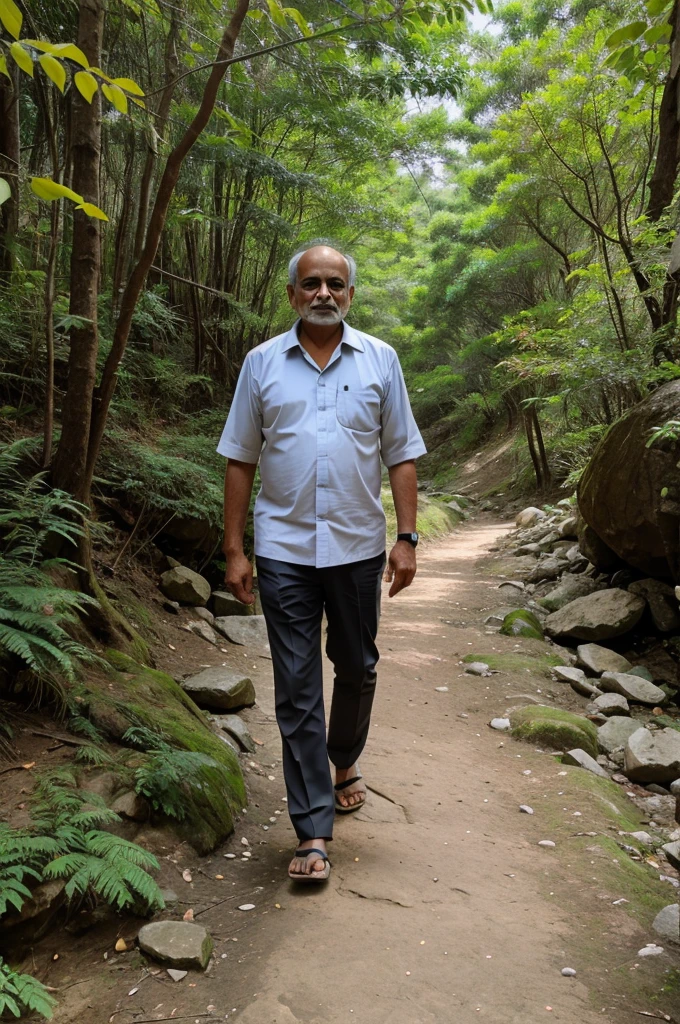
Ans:
[[[373,558],[385,549],[380,501],[387,467],[426,452],[396,352],[343,325],[320,370],[286,334],[244,361],[217,446],[260,463],[255,554],[318,567]]]

